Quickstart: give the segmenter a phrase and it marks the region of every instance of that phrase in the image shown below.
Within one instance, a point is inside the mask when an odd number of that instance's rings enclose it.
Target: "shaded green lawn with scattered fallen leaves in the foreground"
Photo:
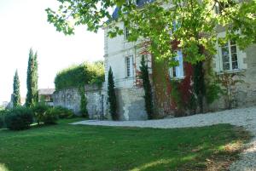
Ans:
[[[73,121],[0,130],[0,171],[206,170],[226,167],[250,138],[242,128],[224,124],[180,129],[67,124]]]

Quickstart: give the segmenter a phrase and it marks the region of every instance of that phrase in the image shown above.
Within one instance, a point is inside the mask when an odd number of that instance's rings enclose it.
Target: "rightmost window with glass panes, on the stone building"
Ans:
[[[238,69],[238,54],[235,41],[229,41],[220,47],[223,71]]]

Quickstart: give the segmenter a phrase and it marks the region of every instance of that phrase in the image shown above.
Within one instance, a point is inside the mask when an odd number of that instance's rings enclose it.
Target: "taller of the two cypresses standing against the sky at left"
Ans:
[[[38,54],[32,48],[29,52],[26,77],[26,106],[30,107],[38,102]]]

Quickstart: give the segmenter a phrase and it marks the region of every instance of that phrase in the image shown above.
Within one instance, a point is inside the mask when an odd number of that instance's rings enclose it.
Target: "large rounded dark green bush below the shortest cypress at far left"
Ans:
[[[5,116],[6,127],[11,130],[30,128],[33,122],[32,110],[26,107],[17,107]]]

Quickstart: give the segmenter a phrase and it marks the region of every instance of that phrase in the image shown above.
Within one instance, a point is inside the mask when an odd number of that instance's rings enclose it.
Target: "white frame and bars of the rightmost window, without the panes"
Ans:
[[[236,60],[232,60],[232,51],[231,51],[231,47],[234,47],[236,46],[236,53],[233,53],[233,54],[236,54]],[[230,69],[227,70],[227,69],[224,69],[224,55],[223,55],[223,48],[228,48],[229,50],[229,66],[230,66]],[[235,45],[231,45],[231,41],[229,40],[228,43],[227,43],[227,46],[221,46],[219,45],[218,46],[218,58],[219,58],[219,61],[220,61],[220,71],[239,71],[241,70],[241,67],[240,67],[240,54],[239,54],[239,48],[237,46],[237,44],[235,43]],[[237,62],[237,68],[233,69],[233,62]]]

